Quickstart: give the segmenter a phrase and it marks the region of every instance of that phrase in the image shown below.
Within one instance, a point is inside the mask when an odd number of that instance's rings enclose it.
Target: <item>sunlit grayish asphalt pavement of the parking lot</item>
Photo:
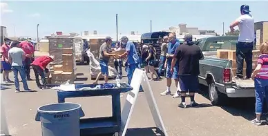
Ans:
[[[88,66],[77,66],[79,74],[76,83],[90,84]],[[34,73],[31,70],[32,78]],[[126,74],[125,74],[126,75]],[[12,79],[12,74],[10,75]],[[126,81],[126,77],[122,81]],[[103,83],[104,81],[99,81]],[[111,82],[115,82],[111,80]],[[21,90],[22,90],[22,83]],[[254,118],[254,99],[230,99],[230,106],[211,106],[207,99],[207,88],[202,86],[202,92],[195,95],[198,108],[178,108],[180,98],[173,99],[171,96],[160,96],[166,89],[166,80],[150,81],[153,95],[160,110],[169,136],[267,136],[268,125],[254,126],[250,120]],[[28,86],[37,92],[15,93],[15,86],[8,84],[8,88],[1,90],[6,108],[6,116],[10,135],[14,136],[39,136],[41,124],[35,121],[37,108],[45,104],[57,103],[55,90],[39,90],[35,81],[28,81]],[[174,84],[171,86],[175,92]],[[122,94],[122,106],[126,94]],[[66,99],[69,102],[82,104],[85,117],[105,117],[111,113],[111,97],[82,97]],[[189,103],[189,98],[186,98]],[[144,93],[139,93],[134,108],[127,136],[153,136],[155,124],[149,110]]]

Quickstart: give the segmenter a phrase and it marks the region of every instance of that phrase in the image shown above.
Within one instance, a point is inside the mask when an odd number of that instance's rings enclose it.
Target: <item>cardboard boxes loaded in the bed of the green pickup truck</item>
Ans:
[[[254,70],[257,66],[257,59],[258,56],[260,55],[260,50],[253,50],[252,51],[252,70]],[[217,50],[217,57],[220,59],[229,59],[232,61],[232,70],[233,70],[233,75],[236,75],[236,70],[237,70],[237,64],[236,64],[236,50]],[[244,64],[243,64],[243,75],[246,74],[246,68],[247,64],[244,59]]]

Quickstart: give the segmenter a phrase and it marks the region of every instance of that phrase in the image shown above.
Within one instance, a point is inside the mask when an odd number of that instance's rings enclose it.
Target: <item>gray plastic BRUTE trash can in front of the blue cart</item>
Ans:
[[[35,120],[41,122],[42,136],[79,136],[80,104],[48,104],[37,109]]]

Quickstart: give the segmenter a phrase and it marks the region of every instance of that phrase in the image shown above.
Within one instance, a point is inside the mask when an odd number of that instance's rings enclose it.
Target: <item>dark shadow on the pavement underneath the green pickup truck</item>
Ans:
[[[209,91],[207,86],[200,86],[200,95],[209,99]],[[228,104],[220,106],[223,110],[227,111],[233,116],[240,116],[247,120],[252,120],[255,115],[255,98],[228,98]],[[264,106],[264,112],[267,114],[267,108]],[[264,117],[264,116],[262,116]]]

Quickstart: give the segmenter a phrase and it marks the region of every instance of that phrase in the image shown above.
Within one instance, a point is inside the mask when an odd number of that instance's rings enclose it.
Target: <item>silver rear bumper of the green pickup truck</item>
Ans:
[[[255,97],[254,88],[226,88],[228,97]]]

